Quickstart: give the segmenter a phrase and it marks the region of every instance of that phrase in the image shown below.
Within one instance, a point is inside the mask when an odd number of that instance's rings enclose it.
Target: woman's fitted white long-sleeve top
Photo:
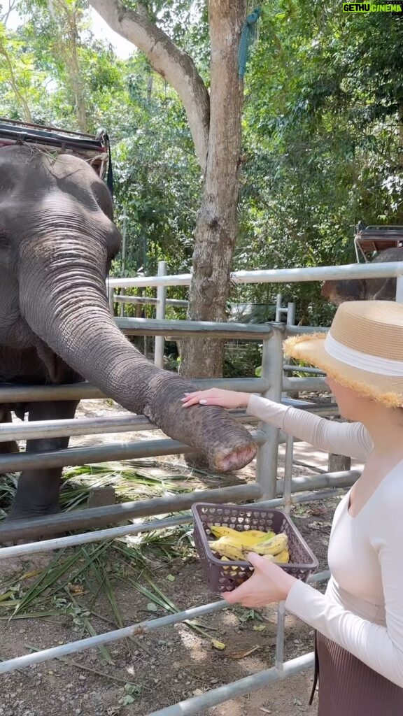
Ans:
[[[256,395],[247,411],[329,453],[365,461],[373,448],[361,423],[330,422]],[[333,518],[326,594],[298,580],[285,606],[403,687],[403,460],[355,517],[349,501],[350,491]]]

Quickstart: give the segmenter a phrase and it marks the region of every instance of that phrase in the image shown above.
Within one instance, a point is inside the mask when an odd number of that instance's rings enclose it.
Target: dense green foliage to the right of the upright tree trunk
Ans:
[[[240,269],[350,263],[360,219],[402,223],[403,24],[362,19],[334,1],[265,7],[247,80]],[[282,286],[311,325],[333,313],[319,290]]]

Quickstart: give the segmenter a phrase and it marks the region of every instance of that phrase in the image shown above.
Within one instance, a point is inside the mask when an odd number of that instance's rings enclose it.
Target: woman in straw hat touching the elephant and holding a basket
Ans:
[[[403,715],[403,306],[349,301],[331,329],[288,339],[285,352],[324,369],[341,415],[328,422],[245,393],[207,390],[186,407],[248,412],[331,453],[365,461],[336,508],[326,594],[250,553],[254,574],[223,596],[286,608],[316,629],[319,716]]]

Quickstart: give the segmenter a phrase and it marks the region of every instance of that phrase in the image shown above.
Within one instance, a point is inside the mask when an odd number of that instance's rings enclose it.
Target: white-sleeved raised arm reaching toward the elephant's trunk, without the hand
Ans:
[[[333,422],[258,395],[250,396],[247,412],[327,453],[366,460],[373,447],[369,432],[361,422]]]

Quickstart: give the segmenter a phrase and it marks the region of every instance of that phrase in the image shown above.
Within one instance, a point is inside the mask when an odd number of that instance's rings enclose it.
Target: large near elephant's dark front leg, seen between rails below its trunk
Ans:
[[[65,400],[37,402],[29,405],[29,420],[63,420],[75,416],[79,401]],[[27,453],[64,450],[69,437],[27,440]],[[59,511],[60,478],[62,468],[24,470],[11,505],[9,519],[40,517]]]

